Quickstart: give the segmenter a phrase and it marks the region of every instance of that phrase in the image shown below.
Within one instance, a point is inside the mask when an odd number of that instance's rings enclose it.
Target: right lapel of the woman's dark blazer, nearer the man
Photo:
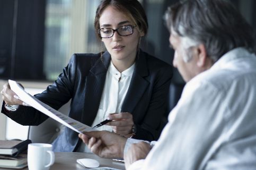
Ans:
[[[144,52],[140,51],[140,55],[135,64],[134,74],[121,108],[122,112],[133,113],[134,108],[142,98],[149,84],[149,81],[145,78],[148,76],[148,68]]]

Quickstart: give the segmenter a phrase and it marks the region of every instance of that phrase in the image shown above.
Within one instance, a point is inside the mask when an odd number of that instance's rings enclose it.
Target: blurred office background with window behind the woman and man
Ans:
[[[142,49],[170,64],[173,51],[169,48],[169,32],[164,26],[163,14],[167,6],[175,1],[140,0],[149,23]],[[256,1],[230,1],[256,29]],[[57,78],[73,53],[98,53],[104,50],[96,40],[93,26],[99,2],[0,0],[1,90],[2,84],[8,79],[21,81],[30,89],[42,90]],[[175,69],[172,81],[175,84],[172,93],[179,96],[184,82]],[[0,129],[2,139],[6,137],[3,114],[0,116]]]

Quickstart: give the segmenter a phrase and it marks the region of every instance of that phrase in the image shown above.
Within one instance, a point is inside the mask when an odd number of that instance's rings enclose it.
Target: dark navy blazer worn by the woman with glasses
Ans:
[[[69,117],[91,126],[99,109],[110,54],[74,54],[58,79],[36,98],[59,109],[72,98]],[[137,127],[134,138],[157,140],[166,115],[167,94],[172,77],[171,65],[140,51],[135,71],[121,107],[133,114]],[[4,105],[3,105],[4,106]],[[15,112],[2,112],[21,125],[39,125],[48,116],[32,107],[20,106]],[[81,140],[75,131],[65,128],[53,142],[55,152],[73,152]]]

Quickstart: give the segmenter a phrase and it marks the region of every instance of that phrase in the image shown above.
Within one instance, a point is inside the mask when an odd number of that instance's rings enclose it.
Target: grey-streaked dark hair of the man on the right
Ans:
[[[187,0],[169,7],[166,16],[169,29],[204,44],[214,62],[234,48],[254,50],[253,29],[230,2]]]

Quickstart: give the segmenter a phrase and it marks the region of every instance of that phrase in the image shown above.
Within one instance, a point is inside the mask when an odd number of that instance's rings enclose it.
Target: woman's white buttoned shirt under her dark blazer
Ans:
[[[100,101],[100,107],[93,121],[92,127],[107,119],[109,114],[121,112],[122,103],[125,100],[134,69],[135,63],[131,65],[131,67],[120,73],[114,67],[113,63],[110,62],[106,74],[104,89]],[[97,129],[112,131],[112,127],[108,125],[103,125]],[[82,143],[78,148],[77,152],[91,151],[84,143]]]

